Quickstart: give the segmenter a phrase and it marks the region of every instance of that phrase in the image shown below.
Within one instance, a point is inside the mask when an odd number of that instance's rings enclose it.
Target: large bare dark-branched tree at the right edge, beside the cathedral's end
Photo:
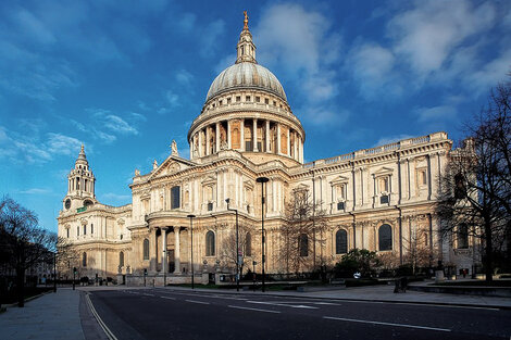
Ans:
[[[494,255],[511,235],[510,83],[491,90],[466,131],[440,178],[437,213],[444,235],[481,240],[486,280],[491,281]]]

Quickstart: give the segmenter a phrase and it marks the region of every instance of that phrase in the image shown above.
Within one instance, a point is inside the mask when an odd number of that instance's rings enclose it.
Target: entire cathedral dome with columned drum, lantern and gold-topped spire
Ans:
[[[234,65],[210,86],[201,114],[188,131],[190,160],[236,150],[252,162],[282,158],[303,163],[306,133],[292,114],[277,77],[256,60],[256,45],[244,12]]]

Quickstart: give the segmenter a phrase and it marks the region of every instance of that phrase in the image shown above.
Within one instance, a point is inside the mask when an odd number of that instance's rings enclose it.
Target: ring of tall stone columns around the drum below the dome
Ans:
[[[216,122],[191,136],[190,159],[214,154],[224,149],[274,153],[303,162],[303,137],[285,124],[267,119]]]

